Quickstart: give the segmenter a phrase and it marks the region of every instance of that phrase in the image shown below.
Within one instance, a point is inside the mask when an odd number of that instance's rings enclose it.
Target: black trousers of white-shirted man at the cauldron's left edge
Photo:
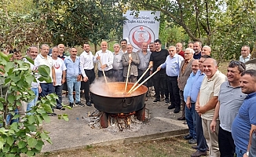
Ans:
[[[86,72],[86,76],[88,77],[88,81],[87,82],[82,82],[82,89],[85,90],[86,101],[90,101],[90,96],[89,96],[90,84],[92,84],[94,79],[95,79],[95,72],[94,72],[93,69],[92,70],[86,70],[85,69],[85,72]]]

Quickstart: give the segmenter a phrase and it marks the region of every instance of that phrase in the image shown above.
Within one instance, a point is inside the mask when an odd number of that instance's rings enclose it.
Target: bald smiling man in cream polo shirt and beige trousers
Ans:
[[[218,147],[219,121],[215,132],[210,130],[210,123],[214,119],[221,84],[225,82],[226,76],[218,70],[217,61],[213,58],[207,58],[203,62],[203,70],[206,76],[196,100],[196,111],[202,118],[203,135],[207,140],[210,156],[220,156]]]

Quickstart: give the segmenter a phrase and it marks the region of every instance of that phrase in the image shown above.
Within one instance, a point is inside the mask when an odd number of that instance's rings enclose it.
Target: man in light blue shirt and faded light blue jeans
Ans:
[[[73,89],[75,86],[75,104],[84,107],[85,105],[80,101],[80,87],[81,87],[81,71],[79,68],[80,59],[76,56],[77,50],[70,49],[70,56],[64,59],[67,68],[67,86],[68,86],[68,101],[71,108],[74,106]]]

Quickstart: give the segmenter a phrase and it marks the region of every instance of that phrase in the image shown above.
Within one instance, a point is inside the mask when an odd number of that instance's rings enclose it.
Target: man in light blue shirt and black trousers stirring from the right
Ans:
[[[171,105],[168,107],[168,109],[170,109],[172,106],[174,106],[174,108],[181,108],[181,97],[180,89],[177,86],[177,76],[180,72],[181,61],[184,59],[176,53],[175,46],[170,46],[168,51],[170,55],[166,57],[166,61],[163,64],[160,64],[159,68],[157,68],[157,71],[160,71],[161,68],[166,68],[167,86],[170,93],[171,102]]]

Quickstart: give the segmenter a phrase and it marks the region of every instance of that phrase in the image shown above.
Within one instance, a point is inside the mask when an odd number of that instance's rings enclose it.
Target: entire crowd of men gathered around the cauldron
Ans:
[[[79,57],[74,47],[69,50],[70,56],[65,56],[63,44],[51,49],[51,57],[48,45],[43,44],[39,54],[38,48],[31,46],[27,49],[27,57],[35,60],[35,64],[30,63],[31,70],[48,66],[52,82],[32,83],[36,97],[27,103],[27,113],[35,106],[38,96],[49,93],[58,95],[56,108],[64,110],[61,103],[65,82],[71,108],[85,106],[80,100],[81,89],[86,105],[92,106],[90,85],[96,79],[95,64],[99,78],[106,75],[115,82],[126,79],[137,82],[149,68],[141,82],[157,71],[144,85],[154,86],[153,103],[165,100],[174,113],[182,111],[177,120],[185,120],[189,129],[184,138],[189,144],[197,144],[192,146],[196,152],[191,156],[207,155],[207,151],[214,157],[235,153],[238,157],[248,156],[256,130],[256,71],[246,70],[244,64],[250,60],[250,47],[242,47],[240,61],[232,60],[224,75],[218,70],[217,61],[210,57],[210,46],[202,46],[201,42],[189,42],[185,51],[181,42],[162,49],[159,39],[149,44],[143,42],[141,46],[141,50],[133,52],[133,46],[123,39],[120,45],[114,44],[111,52],[108,42],[103,41],[101,50],[93,55],[89,43],[85,43]],[[13,52],[12,60],[20,59],[21,53]],[[25,58],[24,61],[27,62]],[[33,75],[38,78],[36,72]]]

